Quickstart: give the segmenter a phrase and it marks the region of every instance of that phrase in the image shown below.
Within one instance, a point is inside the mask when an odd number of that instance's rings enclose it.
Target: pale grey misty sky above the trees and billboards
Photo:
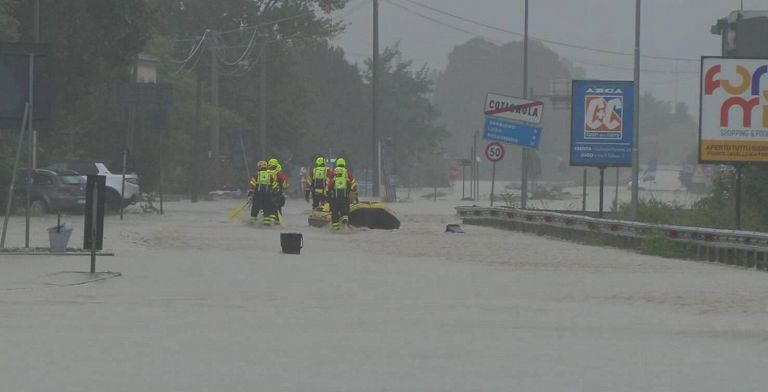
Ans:
[[[412,1],[512,32],[524,30],[524,0]],[[532,37],[616,52],[634,50],[634,0],[529,0],[529,4]],[[642,7],[641,54],[689,60],[643,58],[641,89],[650,90],[667,101],[677,96],[693,113],[698,113],[698,58],[720,55],[719,37],[710,34],[710,26],[718,18],[739,9],[740,1],[643,0]],[[744,0],[744,9],[768,9],[768,0]],[[344,48],[350,61],[362,62],[370,57],[371,15],[371,0],[351,0],[347,8],[337,14],[348,26],[336,44]],[[521,39],[408,0],[380,0],[379,28],[382,48],[400,41],[407,58],[436,69],[444,69],[452,48],[473,36],[483,36],[496,43]],[[546,45],[585,68],[590,78],[632,79],[632,56]]]

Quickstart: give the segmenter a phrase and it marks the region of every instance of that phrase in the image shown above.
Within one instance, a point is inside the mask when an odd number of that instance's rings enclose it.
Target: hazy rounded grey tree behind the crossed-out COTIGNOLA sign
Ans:
[[[549,94],[552,80],[571,80],[570,62],[543,43],[529,42],[528,93],[534,97]],[[578,68],[576,68],[578,71]],[[448,66],[438,78],[435,104],[440,110],[440,123],[451,136],[447,146],[451,154],[469,158],[472,135],[484,124],[483,106],[489,92],[523,96],[523,42],[497,45],[475,38],[456,46],[448,55]],[[539,154],[543,173],[550,176],[558,171],[558,161],[568,161],[570,112],[554,109],[546,100],[543,116],[544,131]],[[499,171],[500,177],[520,174],[521,148],[509,148]],[[506,170],[504,167],[514,167]],[[484,170],[486,173],[487,170]],[[562,173],[564,174],[564,173]]]

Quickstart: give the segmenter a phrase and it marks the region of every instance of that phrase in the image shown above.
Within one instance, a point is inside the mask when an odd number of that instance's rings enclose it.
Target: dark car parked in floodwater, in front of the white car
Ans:
[[[16,178],[14,204],[23,208],[26,199],[26,169]],[[74,171],[32,171],[31,210],[42,214],[57,211],[81,212],[85,207],[85,180]]]

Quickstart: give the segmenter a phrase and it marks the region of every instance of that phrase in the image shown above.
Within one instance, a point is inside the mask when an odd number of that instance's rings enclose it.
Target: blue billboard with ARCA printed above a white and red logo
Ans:
[[[632,166],[634,83],[574,80],[571,94],[571,166]]]

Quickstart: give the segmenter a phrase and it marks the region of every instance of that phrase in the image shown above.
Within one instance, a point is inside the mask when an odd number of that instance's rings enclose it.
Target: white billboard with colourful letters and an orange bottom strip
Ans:
[[[768,59],[701,58],[700,162],[768,162],[766,75]]]

